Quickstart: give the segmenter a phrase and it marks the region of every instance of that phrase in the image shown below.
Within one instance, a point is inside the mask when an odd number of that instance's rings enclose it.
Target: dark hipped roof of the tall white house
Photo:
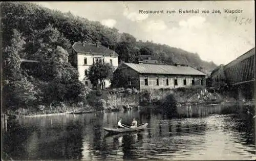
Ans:
[[[112,56],[118,56],[118,54],[109,49],[106,48],[102,45],[96,46],[96,44],[91,44],[91,43],[85,43],[84,47],[81,42],[75,42],[72,46],[72,48],[77,52],[77,53],[92,53],[92,54],[104,54],[104,55],[112,55]]]

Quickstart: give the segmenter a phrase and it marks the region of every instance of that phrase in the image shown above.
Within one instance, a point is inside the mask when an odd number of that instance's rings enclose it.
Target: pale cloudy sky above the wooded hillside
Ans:
[[[100,21],[120,33],[132,34],[137,40],[198,53],[202,60],[217,65],[227,64],[255,47],[254,1],[33,3]],[[225,13],[225,9],[234,13]],[[140,10],[164,13],[143,14]],[[175,13],[166,13],[173,10]],[[199,13],[179,13],[179,10],[199,10]],[[209,13],[202,13],[204,10]],[[211,13],[213,10],[220,13]]]

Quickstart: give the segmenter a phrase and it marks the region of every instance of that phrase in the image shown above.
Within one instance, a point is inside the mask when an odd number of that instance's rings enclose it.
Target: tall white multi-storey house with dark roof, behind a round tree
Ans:
[[[93,84],[86,77],[86,73],[93,63],[110,63],[115,69],[118,67],[118,54],[98,43],[75,42],[72,46],[71,57],[70,62],[77,67],[79,73],[78,79],[89,87],[93,87]],[[110,81],[104,81],[104,87],[109,87],[110,85]]]

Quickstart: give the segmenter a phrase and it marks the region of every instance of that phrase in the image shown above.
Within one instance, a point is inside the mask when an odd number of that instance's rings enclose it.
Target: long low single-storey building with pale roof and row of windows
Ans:
[[[186,86],[206,86],[206,74],[189,66],[122,63],[116,73],[119,87],[137,89],[178,88]],[[119,83],[119,85],[118,85]]]

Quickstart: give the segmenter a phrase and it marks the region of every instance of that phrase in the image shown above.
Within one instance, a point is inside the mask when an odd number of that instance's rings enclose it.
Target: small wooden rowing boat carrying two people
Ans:
[[[108,131],[109,133],[121,133],[121,132],[132,132],[132,131],[142,131],[145,130],[146,126],[148,124],[144,123],[144,124],[140,124],[137,127],[129,127],[129,128],[108,128],[105,127],[104,130]]]

